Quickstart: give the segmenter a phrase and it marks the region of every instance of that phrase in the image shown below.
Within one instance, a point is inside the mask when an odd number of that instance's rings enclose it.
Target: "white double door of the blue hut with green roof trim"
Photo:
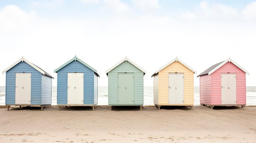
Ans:
[[[67,104],[83,104],[83,73],[67,73]]]

